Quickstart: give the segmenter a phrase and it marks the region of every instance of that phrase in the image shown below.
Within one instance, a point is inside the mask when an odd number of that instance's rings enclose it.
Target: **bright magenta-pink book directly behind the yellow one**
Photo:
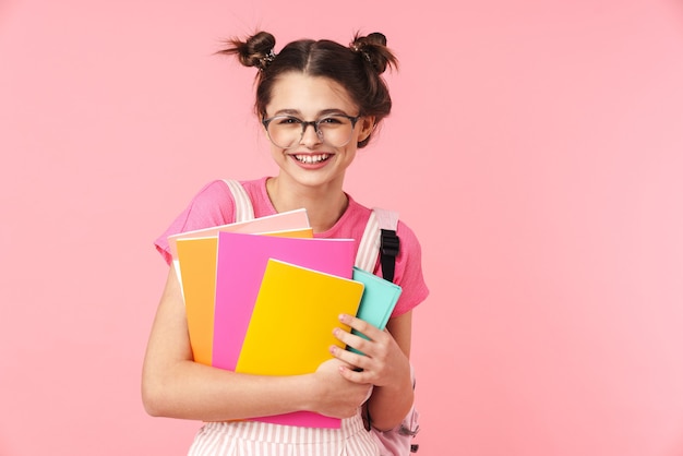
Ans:
[[[235,371],[268,259],[351,278],[355,254],[352,239],[219,232],[212,364]],[[340,425],[338,419],[313,412],[264,417],[259,421],[312,428]]]

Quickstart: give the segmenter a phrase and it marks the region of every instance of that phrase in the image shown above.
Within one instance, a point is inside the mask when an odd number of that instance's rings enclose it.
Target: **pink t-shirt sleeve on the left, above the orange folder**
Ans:
[[[167,238],[169,236],[230,224],[233,218],[235,200],[232,200],[232,194],[224,181],[215,180],[194,195],[188,207],[156,239],[154,245],[166,263],[170,264],[172,259],[168,247]]]

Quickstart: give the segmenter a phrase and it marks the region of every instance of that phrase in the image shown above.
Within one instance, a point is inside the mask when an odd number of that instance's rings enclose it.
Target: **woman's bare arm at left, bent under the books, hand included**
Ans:
[[[356,413],[369,387],[342,377],[342,364],[332,359],[313,374],[261,376],[194,362],[184,302],[171,267],[147,344],[142,398],[149,415],[202,421],[298,410],[347,418]]]

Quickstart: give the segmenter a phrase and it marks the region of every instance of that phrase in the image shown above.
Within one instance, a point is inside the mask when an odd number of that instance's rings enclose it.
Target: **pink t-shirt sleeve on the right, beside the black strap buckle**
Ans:
[[[400,239],[398,256],[396,256],[395,283],[400,286],[402,293],[394,308],[392,317],[403,315],[412,310],[429,296],[429,288],[422,276],[422,249],[415,232],[405,224],[398,224],[397,236]]]

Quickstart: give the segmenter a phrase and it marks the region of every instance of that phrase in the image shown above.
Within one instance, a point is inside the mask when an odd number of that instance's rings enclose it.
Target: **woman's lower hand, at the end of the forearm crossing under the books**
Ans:
[[[372,385],[349,382],[340,375],[340,371],[351,369],[351,365],[334,358],[320,364],[314,373],[320,389],[313,395],[316,404],[311,409],[334,418],[356,415],[358,408],[370,397]]]

